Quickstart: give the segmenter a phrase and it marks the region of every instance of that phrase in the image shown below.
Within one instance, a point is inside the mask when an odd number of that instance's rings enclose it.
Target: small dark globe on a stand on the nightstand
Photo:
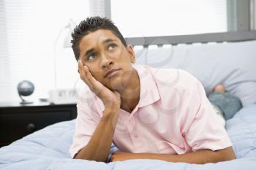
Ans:
[[[22,82],[18,83],[18,94],[21,98],[21,104],[28,104],[32,103],[29,101],[25,101],[22,96],[29,96],[34,92],[34,85],[32,82],[29,82],[28,80],[23,80]]]

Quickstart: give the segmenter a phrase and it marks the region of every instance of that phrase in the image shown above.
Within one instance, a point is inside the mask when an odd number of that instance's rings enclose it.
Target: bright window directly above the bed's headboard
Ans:
[[[111,18],[124,37],[225,32],[227,1],[112,0]]]

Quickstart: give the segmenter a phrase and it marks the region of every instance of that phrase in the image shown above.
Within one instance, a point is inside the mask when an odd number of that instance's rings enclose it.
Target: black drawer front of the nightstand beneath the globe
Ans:
[[[45,128],[72,119],[72,112],[20,112],[0,115],[0,144],[4,145]]]

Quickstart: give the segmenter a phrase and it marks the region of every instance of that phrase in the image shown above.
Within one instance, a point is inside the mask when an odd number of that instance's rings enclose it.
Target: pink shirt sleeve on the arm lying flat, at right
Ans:
[[[192,151],[221,150],[232,146],[225,120],[214,111],[203,85],[193,77],[187,95],[184,137]]]

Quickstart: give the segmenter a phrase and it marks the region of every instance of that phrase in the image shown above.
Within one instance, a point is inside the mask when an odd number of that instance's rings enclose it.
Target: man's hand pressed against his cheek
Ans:
[[[111,109],[120,109],[120,94],[116,91],[108,89],[105,87],[105,85],[102,85],[101,82],[96,80],[89,71],[89,68],[80,60],[78,60],[78,72],[80,74],[81,80],[86,82],[86,85],[89,86],[91,91],[94,92],[100,99],[102,99],[105,107],[109,107]]]

